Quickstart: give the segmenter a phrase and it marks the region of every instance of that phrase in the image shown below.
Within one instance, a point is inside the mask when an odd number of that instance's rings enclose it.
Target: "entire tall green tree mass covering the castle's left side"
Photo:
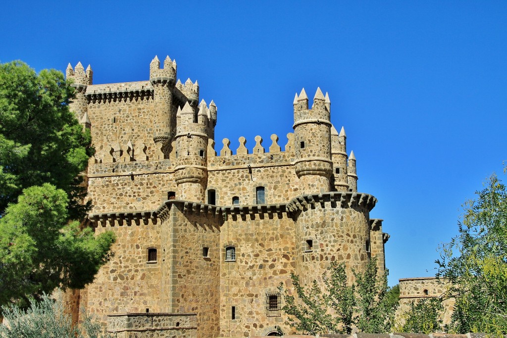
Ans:
[[[0,305],[83,288],[115,240],[72,221],[89,207],[79,174],[93,154],[73,95],[59,71],[0,64]]]

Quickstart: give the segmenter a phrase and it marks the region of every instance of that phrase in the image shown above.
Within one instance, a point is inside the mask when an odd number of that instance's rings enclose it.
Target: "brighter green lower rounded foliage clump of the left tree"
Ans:
[[[67,222],[64,191],[51,184],[25,189],[0,218],[0,304],[40,299],[56,287],[83,288],[108,259],[114,234],[94,237]]]

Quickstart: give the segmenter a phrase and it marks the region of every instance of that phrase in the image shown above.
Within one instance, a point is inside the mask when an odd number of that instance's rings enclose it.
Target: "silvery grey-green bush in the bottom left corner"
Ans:
[[[5,324],[0,324],[2,338],[112,338],[93,319],[85,315],[80,326],[73,326],[71,317],[63,309],[61,299],[46,294],[41,301],[31,299],[30,307],[4,307]]]

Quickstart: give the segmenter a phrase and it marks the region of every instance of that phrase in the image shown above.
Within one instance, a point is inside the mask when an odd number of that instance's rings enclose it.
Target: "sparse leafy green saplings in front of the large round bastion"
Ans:
[[[323,276],[323,289],[314,280],[308,287],[300,284],[292,274],[295,294],[281,283],[285,304],[282,310],[288,315],[286,325],[297,331],[316,335],[322,333],[388,332],[397,303],[387,296],[387,272],[379,275],[377,258],[373,257],[364,273],[353,272],[355,282],[347,283],[345,264],[333,262]]]

